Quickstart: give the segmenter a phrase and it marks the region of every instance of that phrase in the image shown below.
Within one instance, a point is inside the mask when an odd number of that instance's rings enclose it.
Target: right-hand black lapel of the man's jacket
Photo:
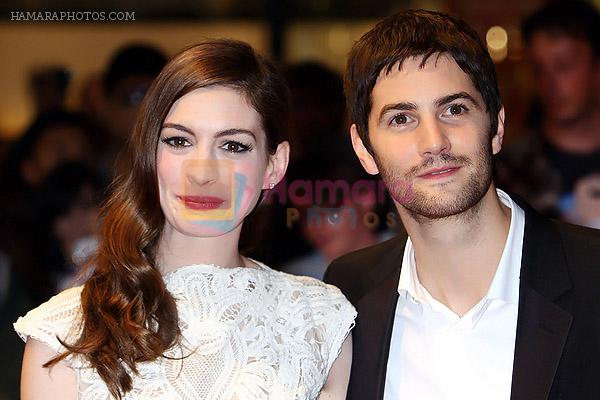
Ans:
[[[553,301],[571,281],[560,233],[527,205],[511,400],[546,400],[572,316]]]

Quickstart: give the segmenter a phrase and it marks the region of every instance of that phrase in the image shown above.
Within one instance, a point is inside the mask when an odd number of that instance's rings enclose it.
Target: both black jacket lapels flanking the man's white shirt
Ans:
[[[554,300],[571,281],[556,225],[515,200],[525,210],[525,235],[511,400],[546,400],[572,322]],[[383,399],[406,236],[397,240],[395,251],[374,266],[371,289],[356,302],[353,399]]]

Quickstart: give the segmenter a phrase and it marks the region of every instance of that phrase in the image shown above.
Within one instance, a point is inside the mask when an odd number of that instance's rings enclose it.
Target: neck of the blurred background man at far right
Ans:
[[[542,131],[555,147],[568,153],[590,154],[600,150],[600,110],[593,111],[569,121],[547,120]]]

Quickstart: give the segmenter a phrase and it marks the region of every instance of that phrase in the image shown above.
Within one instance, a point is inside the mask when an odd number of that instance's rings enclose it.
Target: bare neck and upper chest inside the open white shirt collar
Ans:
[[[488,292],[510,228],[510,209],[494,185],[462,214],[417,222],[399,207],[415,250],[417,275],[425,289],[459,316]]]

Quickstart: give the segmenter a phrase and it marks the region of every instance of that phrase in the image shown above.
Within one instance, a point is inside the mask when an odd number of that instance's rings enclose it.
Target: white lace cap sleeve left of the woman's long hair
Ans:
[[[19,317],[13,324],[15,331],[25,342],[32,338],[63,352],[61,341],[72,343],[80,331],[82,289],[66,289]]]

